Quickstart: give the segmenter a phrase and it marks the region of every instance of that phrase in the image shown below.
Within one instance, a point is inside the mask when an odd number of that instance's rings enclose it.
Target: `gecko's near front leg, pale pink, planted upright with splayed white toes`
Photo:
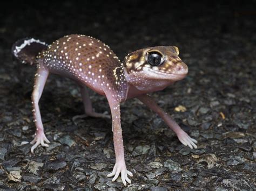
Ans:
[[[111,96],[107,97],[107,100],[109,101],[111,109],[114,153],[116,154],[116,164],[114,165],[112,173],[108,174],[107,177],[114,176],[112,181],[115,181],[121,173],[122,182],[124,186],[126,186],[126,181],[131,183],[127,175],[132,176],[132,173],[126,169],[124,160],[124,145],[120,123],[120,103]]]

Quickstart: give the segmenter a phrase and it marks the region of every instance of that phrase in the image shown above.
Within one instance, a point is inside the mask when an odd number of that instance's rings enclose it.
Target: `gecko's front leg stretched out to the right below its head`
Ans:
[[[143,102],[147,107],[156,112],[161,118],[164,119],[165,123],[176,133],[179,141],[190,148],[197,148],[197,140],[191,138],[183,131],[180,126],[171,118],[170,115],[166,114],[157,104],[154,102],[153,98],[148,95],[141,95],[137,97],[141,102]]]

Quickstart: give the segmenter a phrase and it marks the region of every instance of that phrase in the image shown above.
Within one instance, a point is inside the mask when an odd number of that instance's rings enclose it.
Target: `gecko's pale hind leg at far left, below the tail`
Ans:
[[[49,145],[46,143],[50,143],[49,140],[45,137],[44,135],[44,126],[42,123],[42,118],[40,114],[40,109],[38,102],[41,98],[41,95],[43,93],[43,89],[45,86],[45,82],[48,78],[49,71],[46,69],[44,66],[39,65],[36,73],[36,79],[35,79],[35,86],[33,88],[33,93],[32,93],[32,105],[33,105],[33,119],[36,125],[36,133],[35,133],[35,138],[30,142],[31,144],[34,144],[31,147],[31,152],[35,150],[35,148],[38,145],[42,145],[45,147],[48,147]],[[46,142],[46,143],[45,143]]]

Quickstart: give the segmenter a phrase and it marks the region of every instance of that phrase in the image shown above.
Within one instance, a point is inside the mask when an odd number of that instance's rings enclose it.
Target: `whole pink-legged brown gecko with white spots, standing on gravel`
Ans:
[[[58,74],[77,82],[86,116],[107,117],[96,112],[90,101],[87,88],[107,98],[112,117],[112,132],[116,162],[108,177],[119,174],[123,184],[131,183],[124,157],[123,135],[120,123],[120,103],[138,98],[156,112],[172,129],[180,142],[197,148],[197,140],[191,138],[161,109],[147,93],[160,91],[176,81],[184,79],[187,65],[179,58],[176,46],[156,46],[139,49],[125,56],[120,62],[117,55],[102,41],[90,36],[71,34],[48,45],[41,40],[25,38],[12,46],[12,54],[23,63],[37,66],[32,91],[33,122],[36,126],[31,152],[38,145],[48,147],[49,140],[44,133],[39,100],[50,73]]]

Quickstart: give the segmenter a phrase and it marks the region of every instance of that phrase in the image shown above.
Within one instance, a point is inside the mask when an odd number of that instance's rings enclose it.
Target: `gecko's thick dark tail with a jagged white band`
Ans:
[[[18,40],[12,45],[11,52],[22,63],[30,63],[31,65],[36,62],[36,56],[47,48],[47,44],[33,38],[24,38]]]

